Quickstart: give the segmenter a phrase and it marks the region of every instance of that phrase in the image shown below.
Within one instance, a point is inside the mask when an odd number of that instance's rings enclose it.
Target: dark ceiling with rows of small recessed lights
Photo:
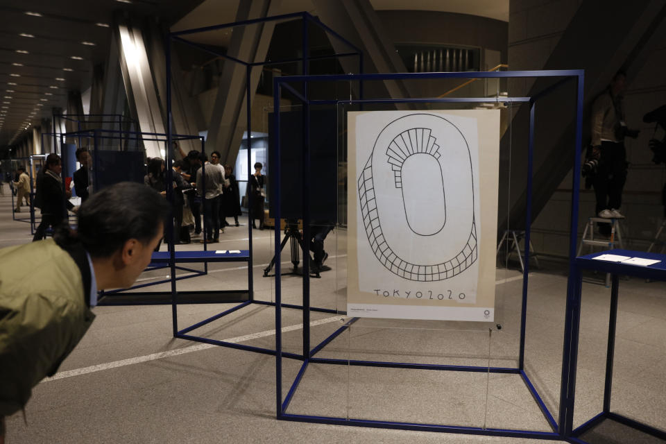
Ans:
[[[0,147],[67,107],[106,62],[114,12],[175,23],[201,1],[0,0]]]

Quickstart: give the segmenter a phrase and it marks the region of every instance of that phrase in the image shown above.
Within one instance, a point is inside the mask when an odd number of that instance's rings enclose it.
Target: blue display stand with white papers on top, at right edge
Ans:
[[[595,259],[601,255],[619,255],[626,257],[639,257],[642,259],[652,259],[659,261],[656,264],[648,266],[632,265],[625,262],[606,262],[603,260]],[[666,281],[666,255],[656,253],[644,253],[642,251],[631,250],[608,250],[601,253],[593,253],[577,257],[575,259],[576,271],[574,275],[574,289],[567,298],[567,318],[570,318],[570,323],[567,323],[567,332],[571,334],[571,349],[570,355],[572,357],[570,375],[569,375],[569,390],[567,395],[567,404],[565,406],[565,430],[567,436],[571,436],[571,441],[575,443],[584,443],[579,436],[599,425],[603,420],[614,420],[624,425],[638,429],[641,432],[655,436],[666,441],[666,432],[663,430],[650,427],[649,425],[642,424],[626,416],[610,411],[610,395],[613,386],[613,357],[615,354],[615,325],[617,323],[617,300],[620,290],[620,275],[635,276],[638,278],[645,278],[649,280]],[[604,384],[604,407],[601,413],[597,414],[592,419],[586,421],[580,427],[572,429],[572,422],[574,416],[574,404],[576,393],[576,373],[577,373],[577,356],[578,356],[578,343],[580,334],[580,318],[581,318],[581,297],[582,297],[582,271],[599,271],[601,273],[610,273],[611,287],[610,287],[610,319],[608,322],[608,350],[606,352],[606,379]],[[569,328],[570,326],[570,328]]]

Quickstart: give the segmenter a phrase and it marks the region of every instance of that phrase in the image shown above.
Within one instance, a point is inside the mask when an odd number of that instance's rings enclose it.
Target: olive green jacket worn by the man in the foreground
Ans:
[[[0,418],[25,407],[92,323],[74,257],[53,239],[0,250]]]

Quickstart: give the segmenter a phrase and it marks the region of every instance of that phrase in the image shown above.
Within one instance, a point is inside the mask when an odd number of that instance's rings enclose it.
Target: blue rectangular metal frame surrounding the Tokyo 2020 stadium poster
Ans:
[[[504,71],[504,72],[446,72],[446,73],[398,73],[398,74],[348,74],[344,76],[329,75],[329,76],[287,76],[275,78],[273,80],[273,109],[278,110],[275,113],[275,121],[273,122],[274,131],[275,131],[275,150],[272,153],[275,157],[280,157],[280,96],[282,88],[288,89],[291,94],[295,94],[304,105],[304,108],[312,104],[337,104],[337,103],[479,103],[479,102],[488,102],[491,100],[485,98],[416,98],[416,99],[364,99],[363,96],[359,97],[359,100],[310,100],[307,96],[307,85],[310,82],[337,82],[337,81],[354,81],[357,80],[362,84],[364,81],[369,80],[418,80],[418,79],[438,79],[438,78],[520,78],[520,77],[533,77],[533,78],[548,78],[548,77],[561,77],[561,81],[554,83],[551,87],[544,89],[542,92],[531,96],[531,97],[508,97],[502,98],[502,101],[507,103],[528,103],[529,104],[529,139],[528,139],[528,159],[527,159],[527,208],[525,211],[525,242],[524,242],[524,257],[525,257],[525,267],[523,273],[523,290],[522,290],[522,310],[520,317],[520,355],[519,355],[519,365],[518,368],[488,368],[488,367],[474,367],[474,366],[445,366],[445,365],[432,365],[432,364],[407,364],[407,363],[393,363],[393,362],[375,362],[375,361],[350,361],[346,359],[321,359],[316,358],[314,355],[322,350],[327,343],[330,343],[332,339],[336,336],[339,336],[344,330],[346,330],[349,325],[355,322],[355,318],[352,318],[350,322],[346,323],[339,328],[334,334],[329,338],[325,339],[322,343],[316,345],[314,348],[310,348],[309,344],[309,321],[306,322],[309,318],[307,313],[309,311],[309,273],[307,273],[307,262],[304,264],[303,272],[303,364],[296,376],[296,379],[293,381],[287,397],[282,399],[282,357],[291,357],[289,354],[282,352],[282,313],[281,313],[281,302],[282,302],[282,290],[281,290],[281,269],[280,269],[280,250],[275,250],[276,264],[275,264],[275,303],[278,309],[275,310],[275,350],[277,351],[276,360],[275,360],[275,400],[276,400],[276,411],[277,418],[279,420],[294,420],[301,422],[320,422],[325,424],[335,424],[335,425],[352,425],[357,427],[382,427],[389,429],[407,429],[407,430],[420,430],[420,431],[429,431],[429,432],[456,432],[456,433],[466,433],[466,434],[483,434],[483,435],[493,435],[493,436],[514,436],[514,437],[524,437],[524,438],[543,438],[543,439],[569,439],[570,437],[570,427],[567,428],[567,418],[570,415],[570,411],[573,405],[574,393],[571,393],[567,390],[567,382],[569,381],[570,375],[572,372],[575,374],[575,357],[572,357],[570,350],[572,345],[572,336],[570,331],[565,329],[564,337],[564,346],[563,346],[563,364],[562,364],[562,377],[561,377],[561,396],[560,396],[560,411],[559,411],[559,422],[556,422],[552,413],[547,409],[545,403],[541,399],[538,391],[533,386],[529,377],[524,371],[524,343],[525,343],[525,324],[527,321],[527,284],[529,280],[529,237],[531,231],[531,196],[532,196],[532,169],[533,169],[533,152],[534,152],[534,116],[536,101],[538,99],[546,96],[547,94],[552,94],[558,87],[566,83],[568,80],[577,81],[577,94],[576,94],[576,146],[575,146],[575,155],[574,155],[574,171],[579,171],[581,160],[581,138],[582,138],[582,122],[583,122],[583,87],[584,87],[584,71],[581,69],[567,69],[567,70],[549,70],[549,71]],[[302,83],[305,85],[305,88],[301,93],[293,89],[289,83]],[[305,113],[307,116],[307,108],[305,108]],[[306,117],[309,119],[309,117]],[[309,121],[309,120],[307,120]],[[304,125],[304,128],[307,128],[307,121]],[[303,146],[303,164],[304,164],[304,180],[307,177],[307,164],[309,164],[309,137],[307,137],[307,130],[304,129],[304,139]],[[280,183],[280,167],[278,162],[278,168],[276,171],[273,171],[275,175],[275,182]],[[579,194],[578,189],[580,185],[580,179],[578,174],[573,174],[572,180],[572,207],[571,207],[571,218],[570,218],[570,245],[569,245],[569,257],[570,257],[570,275],[567,281],[567,289],[571,289],[574,285],[574,276],[575,276],[575,264],[574,259],[576,257],[576,246],[577,246],[577,227],[578,227],[578,206],[579,206]],[[303,208],[304,208],[304,220],[303,227],[305,232],[305,248],[308,248],[309,238],[307,236],[307,227],[309,226],[309,214],[307,212],[307,203],[309,201],[309,196],[307,193],[307,187],[304,187],[303,195]],[[274,190],[274,205],[275,205],[275,218],[280,218],[280,190]],[[275,229],[275,242],[276,245],[280,244],[280,230],[279,227]],[[567,305],[569,300],[567,298]],[[569,316],[569,311],[567,309],[567,317]],[[567,322],[570,323],[570,320]],[[570,325],[567,323],[567,325]],[[309,363],[313,364],[338,364],[338,365],[354,365],[354,366],[381,366],[381,367],[391,367],[391,368],[421,368],[429,370],[454,370],[454,371],[490,371],[491,373],[514,373],[522,377],[524,383],[532,394],[534,400],[537,402],[538,407],[540,407],[542,413],[544,414],[547,422],[552,427],[552,432],[536,432],[529,430],[516,430],[516,429],[487,429],[481,427],[459,427],[459,426],[450,426],[450,425],[437,425],[437,424],[415,424],[409,422],[393,422],[393,421],[378,421],[378,420],[361,420],[361,419],[348,419],[348,418],[330,418],[323,416],[311,416],[311,415],[296,415],[287,413],[287,408],[293,397],[293,394],[298,388],[305,370]],[[574,364],[572,366],[572,363]]]

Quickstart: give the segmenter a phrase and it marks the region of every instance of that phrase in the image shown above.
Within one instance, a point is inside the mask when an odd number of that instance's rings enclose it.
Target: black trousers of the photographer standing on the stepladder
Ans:
[[[622,190],[626,182],[626,151],[622,142],[601,142],[601,157],[592,186],[597,198],[597,214],[622,206]]]

